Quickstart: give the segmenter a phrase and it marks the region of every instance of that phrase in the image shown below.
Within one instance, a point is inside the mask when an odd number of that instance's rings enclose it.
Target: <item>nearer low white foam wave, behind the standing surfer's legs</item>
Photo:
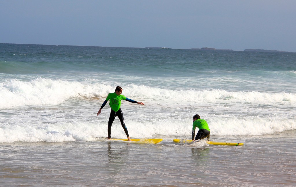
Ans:
[[[213,136],[266,135],[286,130],[295,130],[295,119],[280,118],[221,118],[207,120]],[[191,138],[192,120],[154,120],[138,122],[127,120],[129,135],[132,138],[148,138],[157,135]],[[112,125],[112,137],[126,138],[116,119]],[[95,141],[107,136],[107,122],[99,119],[95,122],[76,121],[73,123],[57,122],[53,124],[4,124],[0,126],[0,143],[23,142],[63,142],[63,141]]]

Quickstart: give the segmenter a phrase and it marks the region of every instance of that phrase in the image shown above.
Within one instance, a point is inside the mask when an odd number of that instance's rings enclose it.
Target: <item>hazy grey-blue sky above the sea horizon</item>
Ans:
[[[0,0],[0,43],[296,52],[295,0]]]

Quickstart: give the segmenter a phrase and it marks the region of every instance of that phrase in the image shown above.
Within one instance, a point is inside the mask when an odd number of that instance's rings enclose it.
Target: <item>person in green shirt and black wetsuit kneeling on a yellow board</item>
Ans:
[[[195,128],[198,128],[198,132],[196,134],[196,137],[194,139],[195,135]],[[210,140],[210,129],[207,124],[207,122],[204,119],[200,119],[200,116],[198,114],[193,116],[193,124],[192,124],[192,141],[201,140],[207,138],[207,140]]]

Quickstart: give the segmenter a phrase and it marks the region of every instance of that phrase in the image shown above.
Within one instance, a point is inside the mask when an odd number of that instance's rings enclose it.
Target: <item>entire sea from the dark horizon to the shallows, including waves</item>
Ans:
[[[2,186],[294,186],[296,53],[0,44]],[[132,138],[107,141],[116,86]],[[191,138],[207,120],[214,146]],[[112,138],[126,138],[118,119]]]

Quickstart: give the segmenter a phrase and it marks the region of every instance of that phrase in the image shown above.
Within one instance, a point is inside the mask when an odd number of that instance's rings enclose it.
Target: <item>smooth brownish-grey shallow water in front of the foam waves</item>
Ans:
[[[1,186],[294,186],[296,131],[205,142],[3,143]]]

